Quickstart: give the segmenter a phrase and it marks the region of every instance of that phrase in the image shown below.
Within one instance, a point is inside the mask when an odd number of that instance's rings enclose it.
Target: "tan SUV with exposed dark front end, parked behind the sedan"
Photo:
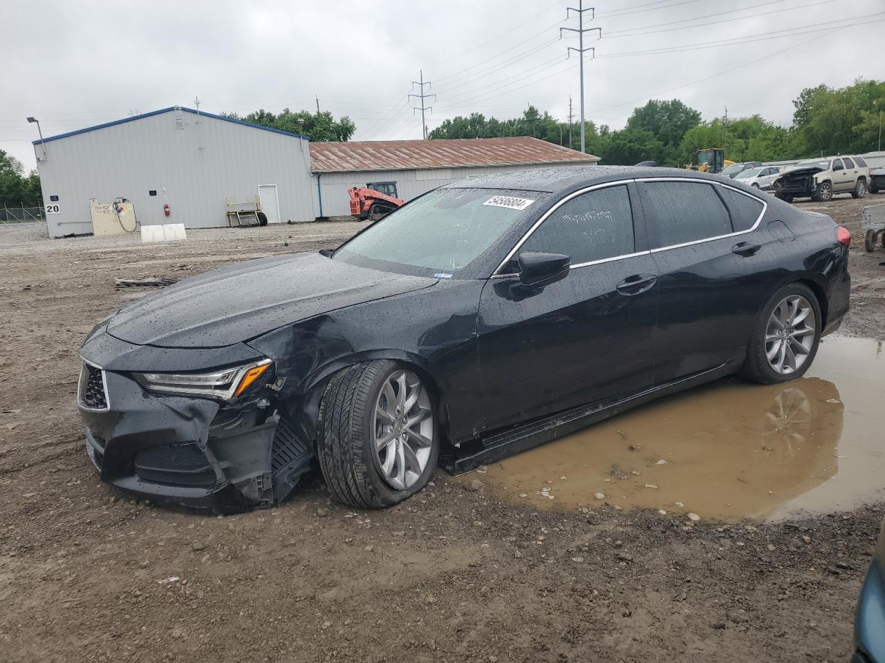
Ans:
[[[811,198],[828,201],[835,194],[850,193],[863,198],[870,181],[870,169],[861,156],[827,156],[797,164],[774,180],[774,195],[782,201]]]

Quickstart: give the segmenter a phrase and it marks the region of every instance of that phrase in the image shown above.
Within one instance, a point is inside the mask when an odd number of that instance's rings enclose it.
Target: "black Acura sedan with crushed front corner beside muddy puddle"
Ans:
[[[311,465],[354,507],[658,396],[808,370],[850,234],[734,180],[569,166],[463,180],[341,247],[188,278],[81,347],[102,478],[232,512]],[[592,459],[590,459],[592,460]]]

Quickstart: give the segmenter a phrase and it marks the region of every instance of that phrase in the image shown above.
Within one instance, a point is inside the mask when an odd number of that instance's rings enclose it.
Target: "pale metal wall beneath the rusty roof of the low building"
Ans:
[[[457,179],[494,175],[499,172],[524,171],[530,167],[524,165],[472,166],[468,168],[425,168],[412,171],[324,172],[319,179],[319,186],[322,189],[322,216],[341,217],[350,214],[350,196],[347,194],[347,190],[351,187],[365,187],[369,182],[396,182],[396,193],[408,202],[420,194],[425,194],[431,189],[442,187]],[[543,168],[544,166],[536,167]],[[319,200],[315,203],[314,208],[318,210],[317,214],[319,215]]]

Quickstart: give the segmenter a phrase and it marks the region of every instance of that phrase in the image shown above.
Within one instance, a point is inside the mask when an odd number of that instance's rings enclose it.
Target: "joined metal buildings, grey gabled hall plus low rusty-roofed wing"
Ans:
[[[230,223],[260,205],[268,223],[350,213],[347,189],[392,182],[408,201],[456,179],[548,164],[596,164],[535,138],[315,142],[178,106],[34,141],[50,237],[93,232],[114,207],[139,225]],[[119,208],[115,203],[120,204]]]

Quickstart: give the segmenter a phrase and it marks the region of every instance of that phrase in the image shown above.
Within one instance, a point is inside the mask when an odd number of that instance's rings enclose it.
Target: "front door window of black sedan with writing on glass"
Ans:
[[[566,202],[538,226],[520,251],[570,255],[572,264],[634,252],[633,213],[627,187],[590,191]]]

